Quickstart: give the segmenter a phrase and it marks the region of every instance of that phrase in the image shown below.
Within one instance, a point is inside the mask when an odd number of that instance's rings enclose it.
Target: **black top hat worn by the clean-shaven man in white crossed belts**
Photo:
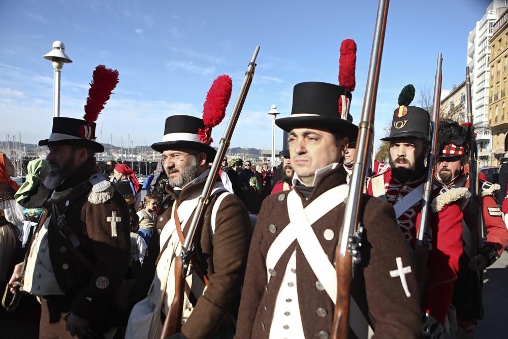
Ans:
[[[339,133],[356,140],[358,127],[341,119],[339,98],[346,96],[351,100],[350,91],[325,82],[301,82],[293,89],[293,108],[291,115],[275,120],[275,124],[284,131],[309,127]]]

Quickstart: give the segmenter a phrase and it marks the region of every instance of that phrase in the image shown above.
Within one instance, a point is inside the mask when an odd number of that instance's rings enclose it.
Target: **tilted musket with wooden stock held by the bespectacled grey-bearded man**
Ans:
[[[193,219],[190,222],[187,236],[185,237],[185,241],[183,242],[181,254],[176,258],[175,295],[173,297],[171,305],[169,306],[168,314],[164,321],[164,326],[161,332],[161,339],[165,339],[172,334],[180,332],[182,325],[185,277],[189,274],[190,259],[192,258],[193,253],[195,251],[194,235],[196,234],[196,230],[199,227],[202,227],[203,225],[203,218],[205,215],[206,206],[210,202],[209,199],[212,194],[213,186],[220,169],[220,162],[224,159],[226,155],[226,150],[228,149],[229,144],[231,142],[233,131],[235,129],[238,118],[240,117],[240,112],[242,111],[243,104],[245,103],[245,99],[247,97],[250,84],[252,83],[252,78],[254,76],[254,71],[256,69],[256,58],[258,57],[259,49],[260,47],[256,46],[254,54],[252,55],[252,58],[248,65],[247,71],[245,72],[245,77],[243,79],[242,87],[240,88],[240,93],[236,98],[235,106],[233,107],[233,111],[231,112],[231,116],[228,121],[228,126],[224,131],[223,138],[220,139],[217,153],[213,160],[210,173],[208,174],[208,177],[205,182],[205,187],[203,188],[203,192],[199,197],[198,205],[194,212]]]

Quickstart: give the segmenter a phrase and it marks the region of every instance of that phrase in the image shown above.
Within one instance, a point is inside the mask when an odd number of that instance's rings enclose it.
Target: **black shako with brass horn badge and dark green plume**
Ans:
[[[399,107],[393,112],[390,135],[380,140],[419,138],[429,141],[430,114],[417,106],[408,106],[415,97],[415,87],[406,85],[399,95]]]

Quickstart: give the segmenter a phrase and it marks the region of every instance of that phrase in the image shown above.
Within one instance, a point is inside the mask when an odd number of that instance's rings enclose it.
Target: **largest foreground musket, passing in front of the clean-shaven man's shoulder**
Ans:
[[[369,73],[365,97],[363,99],[362,118],[358,130],[357,153],[353,164],[349,195],[344,211],[342,233],[335,249],[335,270],[337,272],[337,299],[333,315],[332,338],[347,338],[349,329],[349,311],[351,283],[354,266],[360,261],[360,239],[362,226],[360,208],[365,184],[365,172],[370,139],[374,131],[374,112],[377,97],[377,84],[383,56],[386,22],[389,0],[379,0],[374,38],[370,54]]]

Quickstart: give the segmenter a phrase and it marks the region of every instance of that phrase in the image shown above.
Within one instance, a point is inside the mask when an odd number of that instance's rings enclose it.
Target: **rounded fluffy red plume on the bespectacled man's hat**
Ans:
[[[219,75],[208,90],[203,105],[205,129],[200,129],[198,132],[200,140],[207,145],[213,141],[211,138],[212,128],[220,124],[220,121],[226,116],[226,107],[228,107],[231,99],[232,89],[233,81],[228,75],[224,74]]]

